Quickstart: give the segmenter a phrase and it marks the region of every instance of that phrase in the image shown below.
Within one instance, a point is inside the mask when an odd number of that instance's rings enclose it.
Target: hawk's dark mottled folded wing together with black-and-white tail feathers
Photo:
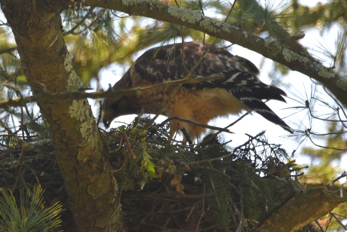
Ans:
[[[182,79],[186,70],[190,70],[201,58],[209,44],[189,42],[184,45],[173,44],[146,51],[132,66],[132,87],[144,86],[146,83],[157,84],[167,80]],[[185,67],[183,66],[183,60]],[[262,83],[257,75],[259,70],[249,60],[232,55],[225,49],[211,47],[201,63],[193,71],[194,78],[224,75],[225,78],[195,84],[184,84],[182,87],[191,89],[223,88],[238,98],[265,119],[290,131],[283,122],[262,100],[276,99],[286,102],[281,89]]]

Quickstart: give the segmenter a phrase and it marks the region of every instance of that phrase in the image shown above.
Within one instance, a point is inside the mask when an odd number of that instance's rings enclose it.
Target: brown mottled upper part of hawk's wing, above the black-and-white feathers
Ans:
[[[210,48],[210,46],[210,44],[203,45],[197,42],[185,43],[184,56],[182,56],[181,44],[150,49],[133,64],[132,68],[139,75],[132,77],[132,81],[134,84],[137,81],[147,81],[154,84],[184,78],[186,69],[190,70],[195,66],[204,51]],[[186,69],[183,66],[183,59]],[[193,71],[193,75],[195,78],[226,75],[225,79],[218,81],[221,83],[227,81],[238,72],[250,75],[259,74],[259,70],[249,60],[237,55],[234,56],[225,49],[212,47],[210,52],[204,56],[200,65]],[[137,80],[134,78],[137,78]],[[214,83],[214,81],[209,83]]]

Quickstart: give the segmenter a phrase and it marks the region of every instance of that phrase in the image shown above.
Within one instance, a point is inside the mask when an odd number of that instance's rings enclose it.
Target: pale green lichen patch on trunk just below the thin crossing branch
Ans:
[[[91,116],[90,105],[86,100],[73,100],[72,104],[69,106],[69,114],[71,118],[75,117],[81,122],[81,135],[86,138],[88,142],[94,138],[92,135],[91,125],[94,123],[94,118]]]

